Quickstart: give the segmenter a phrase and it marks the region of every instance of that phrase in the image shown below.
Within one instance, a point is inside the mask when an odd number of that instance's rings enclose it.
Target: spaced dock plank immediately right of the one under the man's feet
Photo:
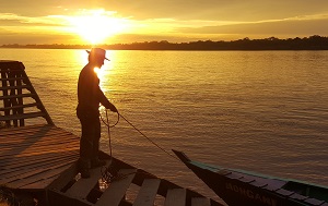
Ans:
[[[127,190],[129,189],[137,169],[121,169],[120,175],[126,175],[124,179],[119,179],[109,184],[108,189],[103,193],[101,198],[96,202],[97,206],[118,206],[121,199],[125,197]]]

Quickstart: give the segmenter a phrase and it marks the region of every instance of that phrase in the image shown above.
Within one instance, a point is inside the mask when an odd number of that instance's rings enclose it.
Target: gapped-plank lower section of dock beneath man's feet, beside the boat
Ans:
[[[104,168],[92,169],[90,179],[77,179],[77,173],[71,168],[48,187],[50,205],[221,206],[213,199],[118,159],[108,160],[107,166],[109,162],[121,178],[102,187]]]

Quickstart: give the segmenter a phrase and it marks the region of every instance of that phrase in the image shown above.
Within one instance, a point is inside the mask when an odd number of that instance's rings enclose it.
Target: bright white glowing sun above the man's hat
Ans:
[[[84,41],[96,45],[127,31],[128,20],[115,17],[114,14],[104,10],[87,10],[71,16],[69,22]]]

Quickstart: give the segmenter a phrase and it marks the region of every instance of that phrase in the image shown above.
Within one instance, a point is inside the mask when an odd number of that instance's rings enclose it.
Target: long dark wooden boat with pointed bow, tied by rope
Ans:
[[[229,206],[328,206],[327,186],[206,165],[173,152]]]

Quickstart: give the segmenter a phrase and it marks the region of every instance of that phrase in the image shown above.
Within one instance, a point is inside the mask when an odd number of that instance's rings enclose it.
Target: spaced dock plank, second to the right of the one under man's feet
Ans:
[[[145,179],[140,187],[133,206],[153,206],[160,184],[160,179]]]

